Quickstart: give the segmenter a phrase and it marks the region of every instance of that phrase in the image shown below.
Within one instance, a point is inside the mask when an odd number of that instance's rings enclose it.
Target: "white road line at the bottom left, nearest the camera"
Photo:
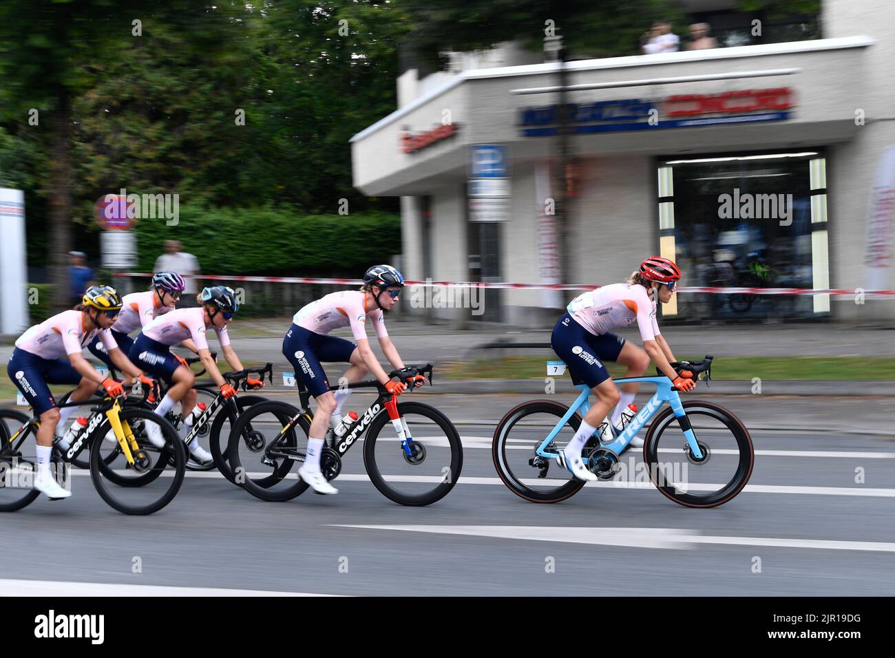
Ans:
[[[0,579],[0,596],[336,596],[220,587],[173,587],[123,583],[75,583],[57,580]]]

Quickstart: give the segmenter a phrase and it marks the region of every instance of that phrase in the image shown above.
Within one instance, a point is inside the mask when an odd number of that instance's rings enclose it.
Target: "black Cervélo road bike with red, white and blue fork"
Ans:
[[[408,381],[408,392],[431,382],[432,364],[393,371]],[[379,396],[341,436],[329,429],[320,470],[333,480],[342,472],[345,454],[363,443],[363,464],[370,481],[389,500],[408,506],[430,505],[454,488],[463,468],[463,447],[454,423],[422,402],[398,402],[377,380],[348,384],[348,389],[375,389]],[[268,401],[240,415],[230,433],[227,454],[236,482],[261,500],[291,500],[308,489],[297,474],[304,462],[313,415],[310,396],[299,383],[301,408]],[[390,427],[390,432],[386,427]],[[293,472],[295,469],[295,472]],[[343,480],[366,480],[345,474]]]

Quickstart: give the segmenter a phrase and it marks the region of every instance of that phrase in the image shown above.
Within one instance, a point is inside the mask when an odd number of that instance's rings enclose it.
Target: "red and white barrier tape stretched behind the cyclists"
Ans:
[[[150,278],[152,274],[124,272],[119,276]],[[190,278],[190,277],[185,277]],[[256,283],[303,283],[331,284],[335,286],[360,286],[359,278],[312,278],[312,277],[225,277],[217,274],[202,274],[201,279],[209,281],[252,281]],[[492,283],[485,281],[405,281],[407,286],[452,286],[471,288],[497,288],[510,290],[593,290],[596,285],[584,284],[537,284],[537,283]],[[864,290],[862,288],[738,288],[716,286],[680,286],[679,293],[709,293],[712,295],[885,295],[895,296],[895,290]]]

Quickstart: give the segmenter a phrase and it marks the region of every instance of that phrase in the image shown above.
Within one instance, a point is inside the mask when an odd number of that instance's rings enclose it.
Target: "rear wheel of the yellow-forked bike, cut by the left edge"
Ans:
[[[0,409],[0,512],[14,512],[40,495],[33,488],[38,463],[37,443],[30,436],[33,432],[10,441],[13,432],[29,420],[28,414]]]

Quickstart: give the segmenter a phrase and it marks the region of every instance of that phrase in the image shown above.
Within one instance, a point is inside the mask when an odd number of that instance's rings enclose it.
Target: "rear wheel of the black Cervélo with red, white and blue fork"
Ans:
[[[308,484],[298,476],[311,422],[305,415],[289,429],[298,409],[285,402],[260,402],[240,414],[230,432],[227,457],[234,483],[255,498],[282,502],[302,494]]]

